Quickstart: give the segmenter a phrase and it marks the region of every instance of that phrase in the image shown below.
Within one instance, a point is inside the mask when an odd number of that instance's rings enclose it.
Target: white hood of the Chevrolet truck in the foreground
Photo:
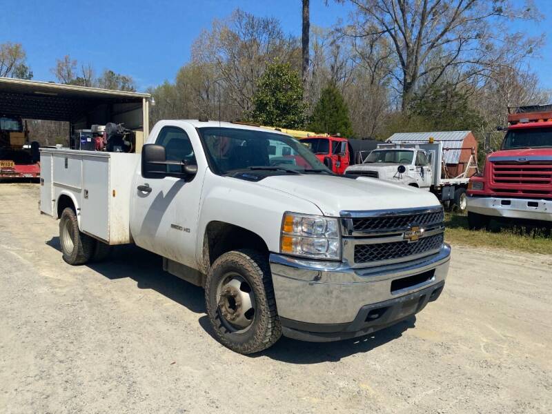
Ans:
[[[437,197],[428,191],[366,177],[277,175],[258,184],[312,201],[324,215],[331,217],[339,217],[339,212],[344,210],[394,210],[439,205]]]

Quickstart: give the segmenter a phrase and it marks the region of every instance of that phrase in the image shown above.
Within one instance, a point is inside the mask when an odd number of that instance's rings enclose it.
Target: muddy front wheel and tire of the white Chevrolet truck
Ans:
[[[282,336],[268,260],[253,250],[224,253],[210,267],[205,302],[215,336],[242,354],[272,346]]]

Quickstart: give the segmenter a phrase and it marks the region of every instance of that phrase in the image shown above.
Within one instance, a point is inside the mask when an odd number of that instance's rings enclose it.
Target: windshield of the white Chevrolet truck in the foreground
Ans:
[[[198,128],[217,173],[238,170],[329,172],[297,139],[287,135],[237,128]]]

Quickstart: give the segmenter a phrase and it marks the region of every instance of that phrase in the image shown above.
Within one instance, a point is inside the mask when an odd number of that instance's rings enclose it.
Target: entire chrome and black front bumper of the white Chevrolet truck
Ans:
[[[437,299],[451,248],[411,262],[344,267],[270,255],[276,304],[287,337],[329,342],[367,335],[420,312]]]

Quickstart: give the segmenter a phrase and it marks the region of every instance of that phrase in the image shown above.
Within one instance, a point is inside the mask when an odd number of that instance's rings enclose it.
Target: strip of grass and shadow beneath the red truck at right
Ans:
[[[508,248],[552,255],[552,227],[491,220],[489,230],[469,230],[468,218],[445,215],[445,241],[466,246]]]

